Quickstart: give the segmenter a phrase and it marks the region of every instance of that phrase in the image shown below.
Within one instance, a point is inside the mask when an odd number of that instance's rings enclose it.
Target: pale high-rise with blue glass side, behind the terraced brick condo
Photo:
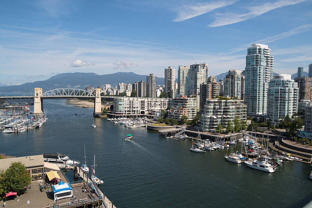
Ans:
[[[208,65],[206,63],[191,65],[186,77],[186,95],[199,95],[200,84],[207,82],[207,79]]]

